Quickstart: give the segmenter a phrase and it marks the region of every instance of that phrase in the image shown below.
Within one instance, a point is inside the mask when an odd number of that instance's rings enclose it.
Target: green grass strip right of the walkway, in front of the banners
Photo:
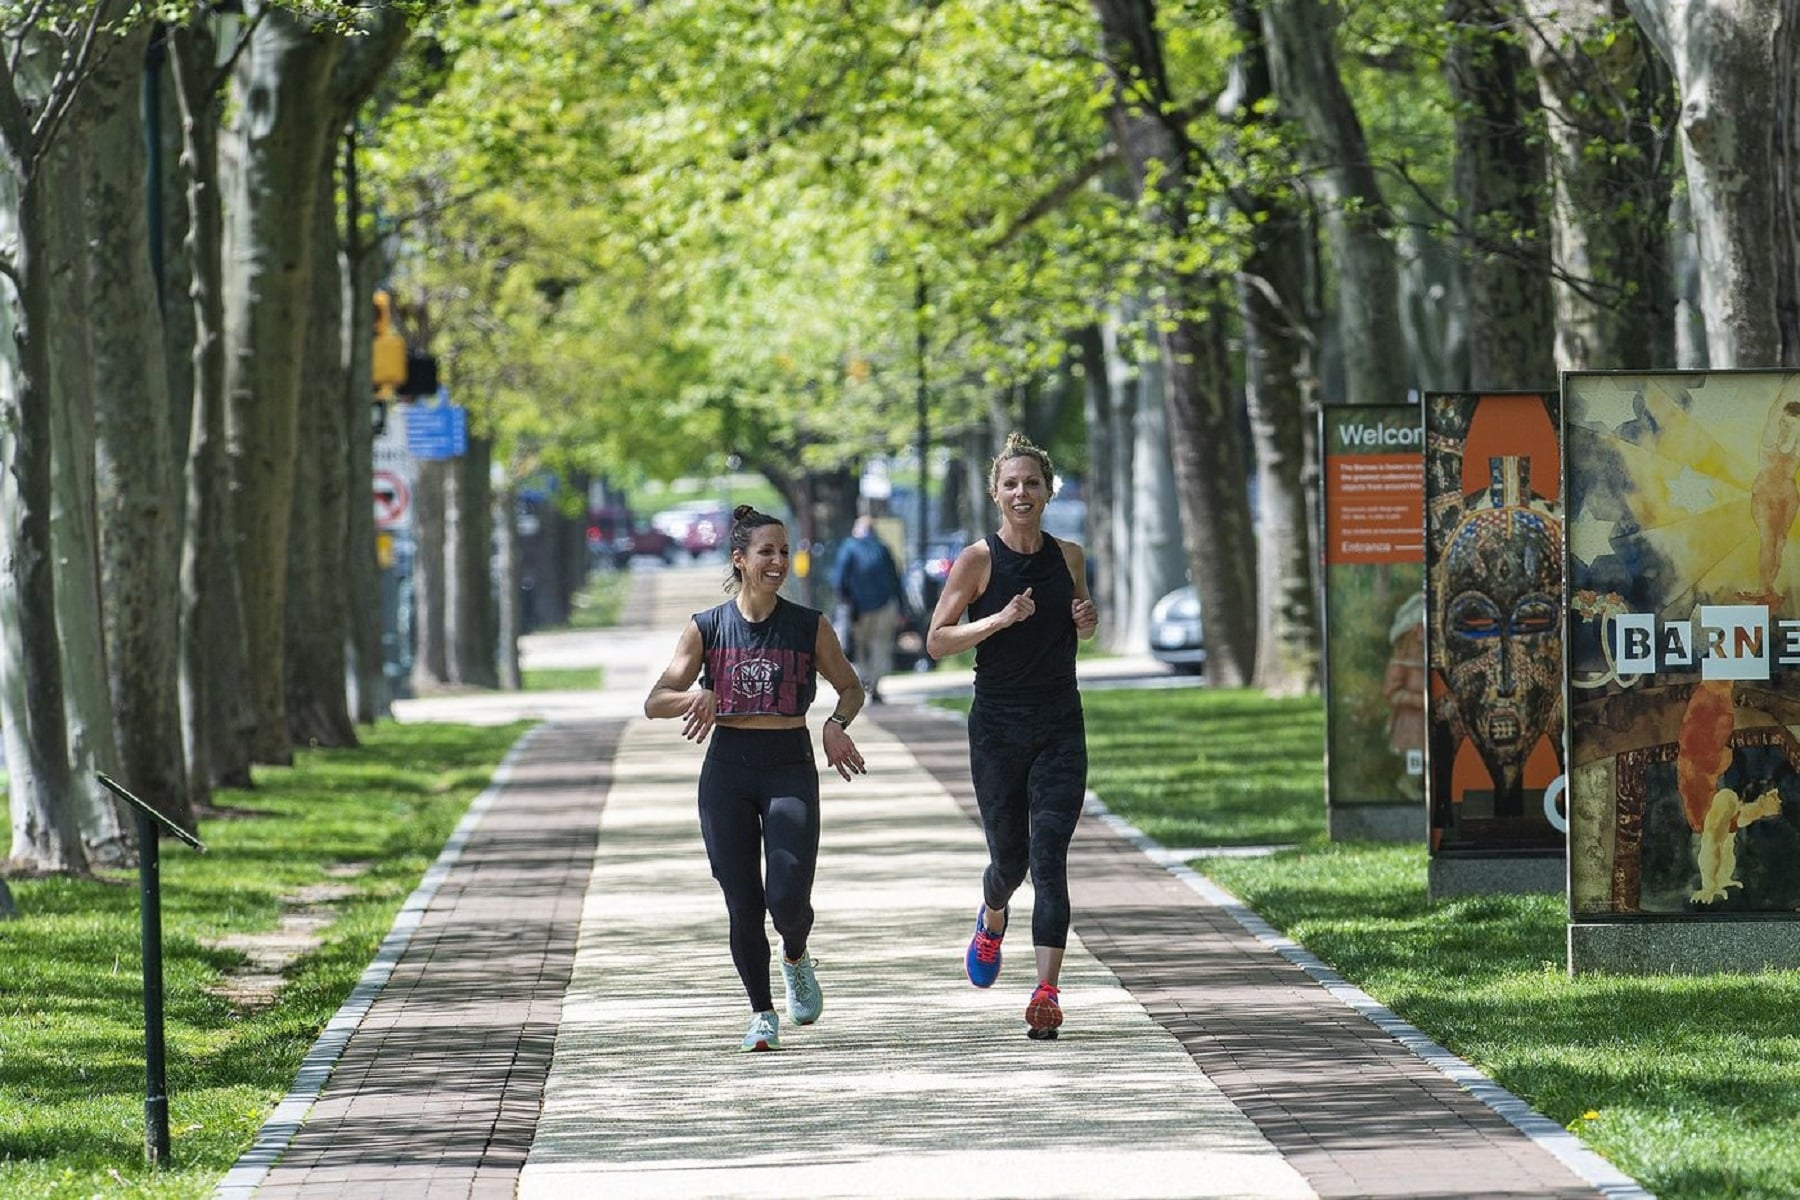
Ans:
[[[1325,840],[1312,700],[1089,691],[1094,792],[1661,1200],[1800,1196],[1800,972],[1570,979],[1561,896],[1427,903],[1426,851]]]

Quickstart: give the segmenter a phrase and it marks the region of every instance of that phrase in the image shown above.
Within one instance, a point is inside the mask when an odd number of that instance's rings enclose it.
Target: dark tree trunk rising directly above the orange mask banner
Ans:
[[[1555,313],[1535,81],[1505,0],[1445,0],[1456,241],[1476,390],[1553,387]]]

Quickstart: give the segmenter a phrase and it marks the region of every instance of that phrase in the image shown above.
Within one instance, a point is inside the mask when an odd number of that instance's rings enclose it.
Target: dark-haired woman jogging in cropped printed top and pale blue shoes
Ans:
[[[751,1002],[740,1049],[778,1051],[765,918],[781,936],[788,1020],[810,1025],[824,1007],[806,954],[819,862],[819,768],[806,709],[824,675],[837,689],[821,734],[824,761],[844,779],[860,775],[850,721],[862,709],[862,684],[824,613],[779,596],[790,569],[787,525],[740,504],[729,545],[733,599],[688,621],[644,716],[679,716],[682,736],[695,743],[713,736],[700,766],[700,837],[725,894],[731,961]]]

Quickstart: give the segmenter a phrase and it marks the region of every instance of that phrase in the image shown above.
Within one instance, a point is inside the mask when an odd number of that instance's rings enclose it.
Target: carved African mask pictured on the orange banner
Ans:
[[[1494,813],[1525,806],[1525,763],[1562,694],[1562,525],[1526,504],[1528,461],[1490,462],[1489,504],[1445,540],[1444,675],[1462,729],[1494,781]]]

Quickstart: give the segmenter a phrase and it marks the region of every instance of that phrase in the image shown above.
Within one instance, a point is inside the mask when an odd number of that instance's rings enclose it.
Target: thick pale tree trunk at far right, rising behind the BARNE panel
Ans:
[[[1681,92],[1681,160],[1699,243],[1712,367],[1780,363],[1777,61],[1800,22],[1784,0],[1625,0]]]

